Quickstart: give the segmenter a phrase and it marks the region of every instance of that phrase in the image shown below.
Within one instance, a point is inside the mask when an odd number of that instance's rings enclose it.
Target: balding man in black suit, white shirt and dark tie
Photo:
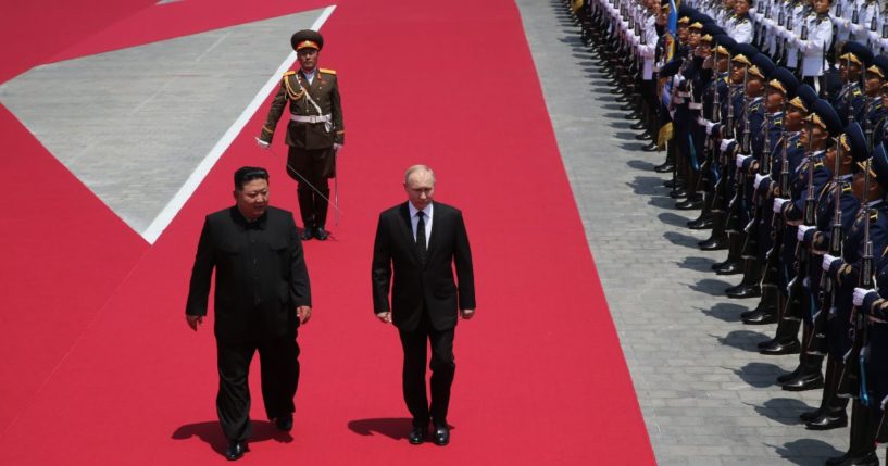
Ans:
[[[409,201],[383,212],[376,227],[374,312],[383,323],[393,322],[401,337],[403,394],[413,416],[408,440],[423,443],[430,416],[435,443],[446,445],[450,441],[450,386],[456,368],[453,332],[458,310],[465,319],[475,314],[472,252],[462,213],[432,202],[435,174],[429,167],[410,167],[404,175],[404,190]],[[453,280],[454,265],[459,287]],[[430,406],[425,383],[426,341],[432,345]]]

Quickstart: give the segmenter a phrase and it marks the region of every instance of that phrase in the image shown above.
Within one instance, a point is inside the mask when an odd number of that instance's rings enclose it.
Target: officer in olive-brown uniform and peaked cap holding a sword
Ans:
[[[284,73],[257,143],[268,148],[277,121],[289,102],[287,174],[298,182],[299,211],[305,228],[302,239],[323,241],[329,236],[325,228],[330,198],[328,180],[336,176],[336,153],[345,143],[342,105],[336,72],[317,67],[317,56],[324,48],[321,34],[303,29],[292,35],[290,43],[300,68]]]

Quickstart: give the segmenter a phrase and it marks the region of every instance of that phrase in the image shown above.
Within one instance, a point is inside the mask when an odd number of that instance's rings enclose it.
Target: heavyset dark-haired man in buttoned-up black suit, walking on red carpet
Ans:
[[[277,428],[292,428],[299,381],[297,327],[311,318],[309,273],[292,214],[268,206],[268,173],[235,172],[236,205],[207,216],[200,234],[185,316],[195,331],[207,315],[210,277],[215,279],[218,365],[216,411],[237,459],[250,437],[253,353],[262,367],[262,399]]]

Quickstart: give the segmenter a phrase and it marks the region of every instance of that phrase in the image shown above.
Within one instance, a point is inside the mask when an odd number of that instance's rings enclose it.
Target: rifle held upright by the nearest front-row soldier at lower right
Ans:
[[[873,241],[870,239],[870,163],[865,162],[863,175],[863,256],[861,257],[860,279],[858,287],[872,288],[873,286]],[[864,406],[870,405],[870,396],[866,387],[862,383],[862,370],[865,366],[868,353],[868,320],[867,310],[863,306],[854,306],[851,310],[851,323],[854,336],[851,349],[845,354],[845,369],[839,378],[839,389],[837,394],[842,398],[856,398]]]

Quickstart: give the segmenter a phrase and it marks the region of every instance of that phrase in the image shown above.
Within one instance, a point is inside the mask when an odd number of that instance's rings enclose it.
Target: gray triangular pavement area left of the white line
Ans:
[[[0,103],[145,236],[322,11],[37,66]]]

